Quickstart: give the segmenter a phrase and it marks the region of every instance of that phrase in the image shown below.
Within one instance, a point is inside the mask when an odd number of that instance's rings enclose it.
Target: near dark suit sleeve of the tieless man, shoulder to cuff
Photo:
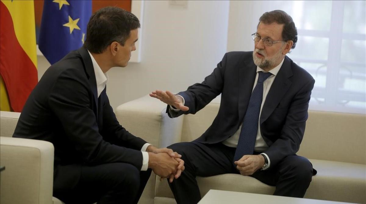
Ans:
[[[75,147],[86,164],[125,162],[141,169],[141,151],[120,147],[102,139],[96,116],[90,107],[93,98],[88,90],[83,73],[66,69],[53,84],[49,95],[49,106],[59,118],[70,145]]]

